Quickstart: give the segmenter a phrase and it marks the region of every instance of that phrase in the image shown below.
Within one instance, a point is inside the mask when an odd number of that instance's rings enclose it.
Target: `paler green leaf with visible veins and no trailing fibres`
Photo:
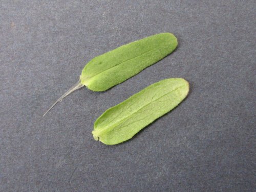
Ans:
[[[186,97],[188,90],[188,82],[181,78],[154,83],[106,110],[95,121],[93,136],[106,145],[128,140],[175,108]]]

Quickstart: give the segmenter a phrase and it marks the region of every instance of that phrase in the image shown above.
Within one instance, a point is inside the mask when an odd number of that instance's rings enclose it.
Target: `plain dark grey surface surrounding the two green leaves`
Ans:
[[[1,1],[1,191],[253,191],[255,1]],[[161,32],[177,50],[105,92],[42,114],[93,57]],[[95,119],[170,77],[187,99],[131,140]]]

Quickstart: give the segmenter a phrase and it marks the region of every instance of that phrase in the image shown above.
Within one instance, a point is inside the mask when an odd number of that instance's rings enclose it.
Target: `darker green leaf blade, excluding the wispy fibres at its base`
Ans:
[[[87,63],[81,83],[93,91],[109,89],[163,59],[177,44],[173,34],[160,33],[122,45]]]

